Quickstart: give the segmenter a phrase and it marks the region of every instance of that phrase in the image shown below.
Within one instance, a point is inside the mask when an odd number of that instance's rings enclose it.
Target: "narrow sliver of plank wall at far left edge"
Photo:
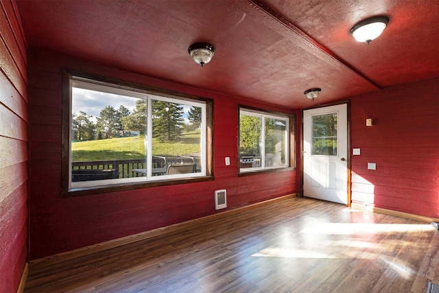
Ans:
[[[0,292],[16,292],[27,256],[27,61],[16,3],[0,10]]]

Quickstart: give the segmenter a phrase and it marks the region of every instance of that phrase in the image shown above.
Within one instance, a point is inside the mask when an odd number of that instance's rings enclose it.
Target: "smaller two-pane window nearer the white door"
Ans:
[[[239,110],[239,172],[291,166],[290,118],[258,110]]]

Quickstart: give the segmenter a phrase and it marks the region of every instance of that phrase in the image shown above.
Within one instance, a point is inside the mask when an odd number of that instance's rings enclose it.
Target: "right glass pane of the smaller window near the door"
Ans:
[[[287,121],[265,118],[265,167],[285,165]]]

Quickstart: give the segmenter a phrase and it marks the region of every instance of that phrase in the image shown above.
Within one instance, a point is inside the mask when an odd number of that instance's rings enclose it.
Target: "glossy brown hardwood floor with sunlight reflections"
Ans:
[[[25,292],[425,292],[439,231],[292,198],[92,255],[30,263]]]

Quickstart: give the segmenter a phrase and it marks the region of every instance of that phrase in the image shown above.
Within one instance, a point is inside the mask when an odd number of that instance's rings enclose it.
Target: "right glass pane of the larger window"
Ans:
[[[152,176],[201,172],[201,122],[200,107],[152,100]]]

